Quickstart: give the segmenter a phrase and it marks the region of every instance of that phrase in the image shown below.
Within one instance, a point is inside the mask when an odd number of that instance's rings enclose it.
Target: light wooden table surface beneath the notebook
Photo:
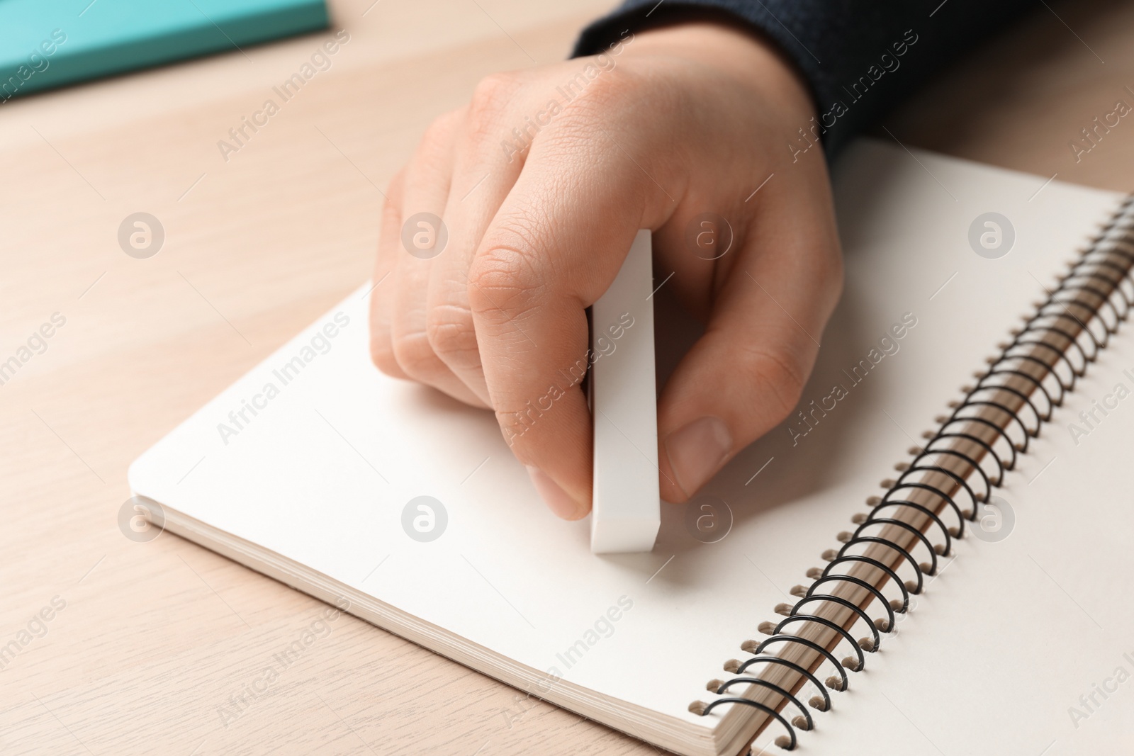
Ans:
[[[365,280],[380,188],[425,125],[485,74],[564,57],[607,5],[371,2],[331,2],[349,42],[228,160],[218,141],[328,35],[0,108],[0,362],[66,320],[0,385],[5,755],[654,750],[346,615],[249,694],[323,605],[119,529],[130,460]],[[1134,104],[1132,31],[1129,2],[1051,2],[886,126],[1129,190],[1134,119],[1077,163],[1068,141]],[[155,256],[119,247],[135,212],[164,229]]]

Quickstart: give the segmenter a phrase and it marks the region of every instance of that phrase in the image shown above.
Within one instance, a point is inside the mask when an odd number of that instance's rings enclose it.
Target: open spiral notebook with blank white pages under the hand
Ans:
[[[1134,207],[872,141],[833,176],[846,287],[797,411],[663,504],[653,552],[592,554],[490,414],[378,373],[370,284],[130,486],[179,536],[672,753],[1118,750]],[[663,376],[696,330],[659,301],[655,332]]]

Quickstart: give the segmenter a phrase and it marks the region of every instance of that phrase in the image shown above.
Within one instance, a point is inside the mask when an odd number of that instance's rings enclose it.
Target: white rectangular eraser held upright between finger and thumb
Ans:
[[[594,510],[591,551],[652,551],[661,527],[650,231],[591,307]]]

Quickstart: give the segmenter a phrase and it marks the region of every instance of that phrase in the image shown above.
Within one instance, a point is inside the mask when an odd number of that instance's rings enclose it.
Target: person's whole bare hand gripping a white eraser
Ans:
[[[839,296],[822,150],[788,146],[806,144],[799,129],[811,136],[813,116],[770,45],[716,24],[490,76],[391,181],[374,363],[496,410],[551,509],[584,517],[584,309],[637,229],[652,229],[655,283],[672,271],[666,286],[706,323],[658,406],[661,492],[685,501],[793,409]],[[418,213],[443,219],[435,256],[404,244],[435,241],[440,229],[418,227]]]

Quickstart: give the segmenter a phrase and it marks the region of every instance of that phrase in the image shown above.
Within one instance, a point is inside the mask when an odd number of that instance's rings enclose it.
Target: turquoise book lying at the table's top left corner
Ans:
[[[323,0],[0,0],[0,103],[328,24]]]

